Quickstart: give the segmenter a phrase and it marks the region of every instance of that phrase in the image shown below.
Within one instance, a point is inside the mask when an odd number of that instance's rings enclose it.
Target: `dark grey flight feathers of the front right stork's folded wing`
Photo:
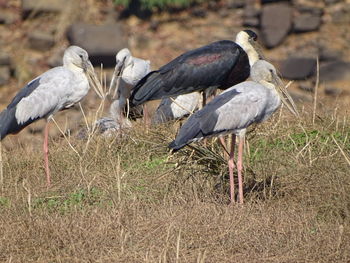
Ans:
[[[181,127],[176,139],[169,144],[169,148],[176,150],[196,139],[222,133],[222,130],[215,130],[218,121],[217,109],[233,99],[239,92],[235,89],[227,91],[215,97],[205,107],[194,113]]]

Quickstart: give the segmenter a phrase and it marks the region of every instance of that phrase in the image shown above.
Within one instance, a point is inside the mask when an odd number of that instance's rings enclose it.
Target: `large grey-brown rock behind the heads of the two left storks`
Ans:
[[[72,45],[84,48],[92,64],[104,67],[115,66],[115,55],[127,47],[126,35],[121,24],[90,25],[73,24],[67,31]]]

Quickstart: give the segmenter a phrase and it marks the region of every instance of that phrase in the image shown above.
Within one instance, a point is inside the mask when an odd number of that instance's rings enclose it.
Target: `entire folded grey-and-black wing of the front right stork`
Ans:
[[[192,141],[247,128],[260,118],[266,89],[252,81],[238,84],[193,114],[169,145],[178,150]]]

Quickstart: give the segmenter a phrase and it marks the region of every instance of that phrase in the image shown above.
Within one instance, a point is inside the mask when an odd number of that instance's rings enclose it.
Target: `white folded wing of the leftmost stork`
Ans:
[[[64,102],[74,93],[72,80],[72,72],[57,67],[29,82],[8,106],[16,107],[18,124],[49,116],[63,108]]]

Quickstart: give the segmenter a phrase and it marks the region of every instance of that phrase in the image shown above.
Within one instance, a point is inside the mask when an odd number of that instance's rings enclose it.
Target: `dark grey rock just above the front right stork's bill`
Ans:
[[[315,73],[316,59],[289,57],[281,63],[281,75],[292,80],[305,80]]]

